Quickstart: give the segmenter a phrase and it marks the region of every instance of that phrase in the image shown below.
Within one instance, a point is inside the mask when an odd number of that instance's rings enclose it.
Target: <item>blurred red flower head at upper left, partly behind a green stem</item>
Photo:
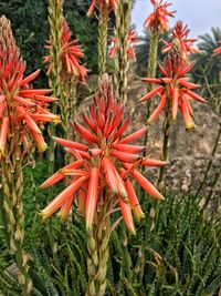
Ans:
[[[81,45],[76,44],[78,40],[71,40],[72,32],[69,28],[67,22],[64,20],[63,29],[62,29],[62,38],[61,38],[61,51],[60,59],[62,61],[63,71],[67,76],[73,76],[74,80],[78,78],[83,83],[85,83],[85,78],[87,75],[87,69],[81,64],[81,59],[84,58],[84,53],[82,51]],[[49,45],[46,49],[52,49],[53,44],[51,41],[48,41]],[[44,57],[44,63],[49,63],[49,73],[53,71],[53,65],[51,64],[52,57]]]

